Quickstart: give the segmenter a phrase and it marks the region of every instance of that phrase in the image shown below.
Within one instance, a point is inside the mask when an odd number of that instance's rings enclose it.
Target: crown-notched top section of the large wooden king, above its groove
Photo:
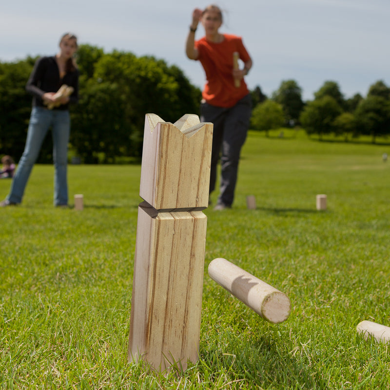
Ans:
[[[206,208],[213,124],[186,114],[174,124],[146,114],[139,195],[156,210]]]

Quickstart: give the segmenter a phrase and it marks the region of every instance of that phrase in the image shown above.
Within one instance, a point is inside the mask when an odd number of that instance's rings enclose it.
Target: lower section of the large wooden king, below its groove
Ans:
[[[138,208],[129,359],[157,370],[198,358],[207,218]]]

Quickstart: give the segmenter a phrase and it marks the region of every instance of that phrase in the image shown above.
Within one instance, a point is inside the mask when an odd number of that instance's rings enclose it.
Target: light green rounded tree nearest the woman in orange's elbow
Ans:
[[[254,107],[251,117],[251,127],[254,130],[268,131],[277,129],[284,124],[283,108],[279,103],[267,99]]]

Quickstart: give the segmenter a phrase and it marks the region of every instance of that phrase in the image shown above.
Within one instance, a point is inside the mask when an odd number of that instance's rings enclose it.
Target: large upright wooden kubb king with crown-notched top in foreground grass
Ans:
[[[160,371],[198,359],[213,124],[147,114],[129,361]]]

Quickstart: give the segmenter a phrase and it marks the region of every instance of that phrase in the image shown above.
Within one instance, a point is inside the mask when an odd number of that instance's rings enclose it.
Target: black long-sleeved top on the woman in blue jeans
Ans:
[[[59,76],[59,67],[56,58],[41,57],[34,65],[30,78],[26,84],[26,91],[33,95],[33,106],[45,107],[42,96],[46,92],[57,92],[62,84],[74,88],[69,97],[69,103],[78,101],[78,69],[68,71],[63,78]],[[69,103],[61,104],[56,110],[68,110]]]

